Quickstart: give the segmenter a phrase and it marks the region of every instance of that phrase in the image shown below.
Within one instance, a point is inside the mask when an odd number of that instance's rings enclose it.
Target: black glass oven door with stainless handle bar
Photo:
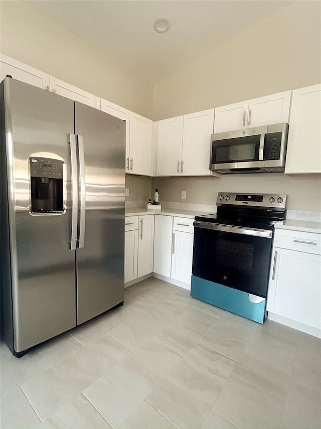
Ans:
[[[272,231],[194,222],[194,276],[266,298]]]

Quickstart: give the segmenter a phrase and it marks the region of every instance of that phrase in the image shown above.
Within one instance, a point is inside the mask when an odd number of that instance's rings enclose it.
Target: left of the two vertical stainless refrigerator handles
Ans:
[[[78,221],[78,174],[77,174],[77,147],[75,134],[69,134],[71,157],[71,241],[70,250],[77,246],[77,221]]]

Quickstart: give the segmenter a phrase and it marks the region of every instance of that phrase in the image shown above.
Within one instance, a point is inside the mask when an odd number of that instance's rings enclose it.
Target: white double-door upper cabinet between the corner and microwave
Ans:
[[[214,109],[157,122],[157,176],[210,176]]]

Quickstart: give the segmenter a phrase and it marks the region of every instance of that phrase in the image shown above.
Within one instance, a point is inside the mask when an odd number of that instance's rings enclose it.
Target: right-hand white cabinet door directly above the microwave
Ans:
[[[250,100],[247,127],[288,122],[290,101],[291,91]]]

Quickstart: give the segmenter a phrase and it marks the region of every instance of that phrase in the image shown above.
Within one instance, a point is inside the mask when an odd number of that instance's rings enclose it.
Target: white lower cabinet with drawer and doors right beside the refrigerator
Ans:
[[[125,283],[152,273],[154,215],[125,218]]]

